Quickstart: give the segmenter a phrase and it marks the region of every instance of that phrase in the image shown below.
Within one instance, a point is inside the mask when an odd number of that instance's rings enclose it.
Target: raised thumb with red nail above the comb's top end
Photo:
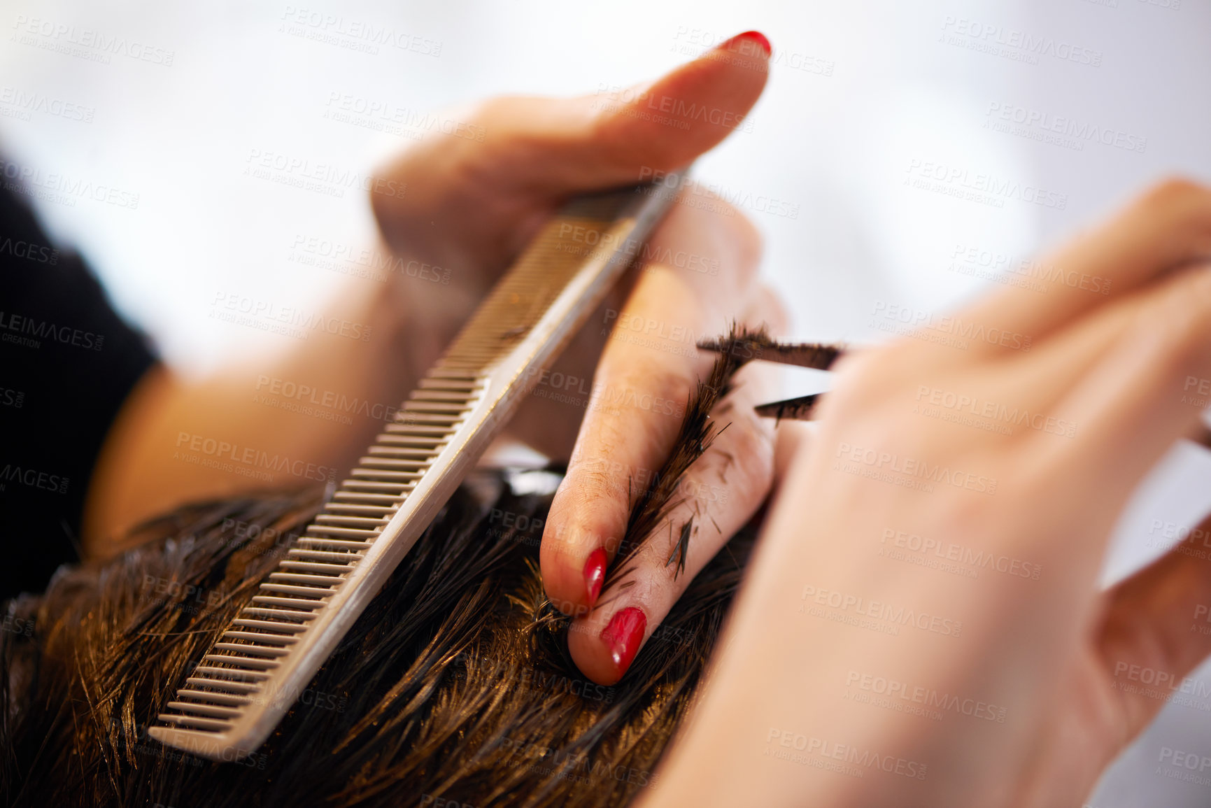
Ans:
[[[739,34],[655,81],[572,99],[513,98],[528,190],[563,195],[681,168],[745,126],[769,76],[769,40]],[[517,104],[529,107],[527,114]],[[528,160],[526,157],[529,157]]]

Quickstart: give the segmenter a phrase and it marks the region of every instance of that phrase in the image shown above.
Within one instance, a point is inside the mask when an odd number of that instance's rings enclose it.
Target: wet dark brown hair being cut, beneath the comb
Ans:
[[[632,527],[659,520],[676,477],[717,434],[707,413],[742,363],[729,355],[689,402],[676,465],[654,483],[664,493],[632,493]],[[291,694],[269,740],[229,762],[160,745],[148,724],[318,511],[321,492],[182,508],[138,528],[121,556],[61,568],[44,595],[5,606],[0,798],[486,808],[619,806],[659,789],[656,763],[690,707],[753,531],[716,555],[626,677],[604,687],[568,657],[569,620],[538,572],[559,479],[469,477],[308,689]]]

